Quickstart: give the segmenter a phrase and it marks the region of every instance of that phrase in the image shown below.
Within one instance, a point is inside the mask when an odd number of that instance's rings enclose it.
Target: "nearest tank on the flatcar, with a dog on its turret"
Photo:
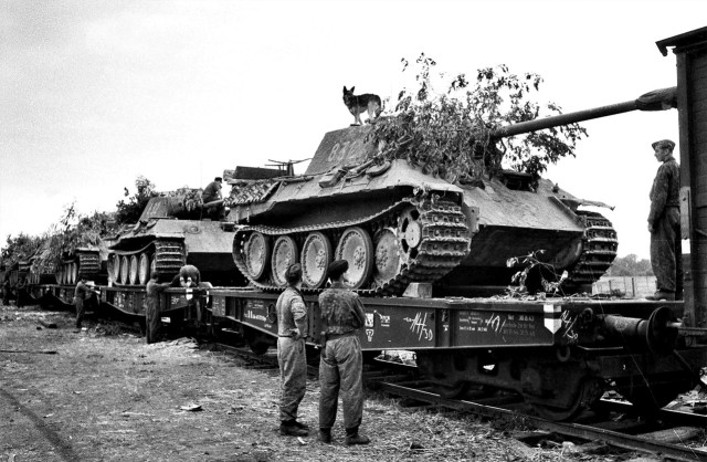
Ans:
[[[642,109],[674,107],[674,88],[637,99],[503,127],[492,138]],[[350,288],[400,295],[410,283],[430,283],[436,295],[507,287],[517,269],[507,260],[542,250],[567,285],[587,290],[616,255],[611,222],[580,206],[547,179],[503,171],[469,185],[425,175],[397,159],[382,165],[367,141],[370,126],[327,133],[306,172],[249,183],[230,181],[229,220],[240,224],[233,260],[250,283],[277,291],[294,262],[303,290],[327,281],[330,261],[349,262]]]

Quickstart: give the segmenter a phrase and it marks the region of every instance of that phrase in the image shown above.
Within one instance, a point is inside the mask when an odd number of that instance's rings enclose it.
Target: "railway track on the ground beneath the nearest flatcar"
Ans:
[[[217,344],[217,349],[226,353],[239,365],[249,369],[277,372],[277,355],[271,349],[256,355],[246,346],[234,347]],[[318,375],[318,355],[308,355],[307,372],[310,378]],[[707,461],[707,450],[701,441],[707,428],[707,416],[679,410],[663,409],[655,421],[632,417],[632,405],[603,399],[594,412],[580,416],[574,422],[552,422],[531,414],[523,399],[513,393],[471,390],[464,399],[447,399],[421,380],[416,368],[398,363],[367,363],[363,382],[370,390],[398,397],[399,406],[410,411],[452,410],[469,413],[497,422],[523,424],[536,429],[520,432],[518,439],[535,445],[539,440],[571,441],[578,451],[635,451],[676,461]],[[561,442],[558,443],[561,445]],[[605,454],[604,454],[605,455]]]

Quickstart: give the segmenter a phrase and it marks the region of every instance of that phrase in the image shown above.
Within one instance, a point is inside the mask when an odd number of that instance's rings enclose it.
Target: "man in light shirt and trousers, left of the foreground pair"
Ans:
[[[277,363],[279,363],[279,434],[306,437],[309,428],[297,421],[297,409],[307,389],[307,305],[299,293],[302,265],[285,272],[287,288],[277,298]]]

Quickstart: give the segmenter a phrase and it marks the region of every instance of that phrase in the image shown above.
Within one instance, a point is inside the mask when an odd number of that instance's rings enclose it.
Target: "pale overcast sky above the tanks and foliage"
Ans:
[[[115,210],[140,175],[197,188],[236,165],[312,157],[352,122],[341,87],[390,97],[402,57],[536,72],[538,98],[571,112],[674,86],[675,56],[655,42],[706,21],[704,0],[2,0],[0,245],[46,231],[72,201]],[[651,143],[677,141],[677,111],[583,126],[577,158],[546,177],[615,206],[602,213],[619,254],[647,258]]]

